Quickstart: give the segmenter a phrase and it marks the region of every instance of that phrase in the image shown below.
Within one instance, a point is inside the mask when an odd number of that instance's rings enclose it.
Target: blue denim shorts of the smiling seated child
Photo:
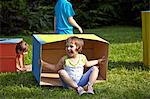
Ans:
[[[93,71],[93,67],[91,67],[86,73],[83,74],[83,76],[81,77],[81,79],[80,79],[80,81],[79,81],[79,83],[78,83],[78,86],[83,87],[83,86],[85,86],[86,84],[88,84],[89,77],[90,77],[92,71]],[[62,83],[62,86],[63,86],[63,87],[69,88],[69,85],[66,84],[66,83],[63,81],[63,79],[60,78],[60,80],[61,80],[61,83]]]

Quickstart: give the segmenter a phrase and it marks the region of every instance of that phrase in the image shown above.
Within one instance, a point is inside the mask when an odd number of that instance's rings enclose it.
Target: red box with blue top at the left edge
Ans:
[[[16,45],[22,38],[0,38],[0,72],[16,72]]]

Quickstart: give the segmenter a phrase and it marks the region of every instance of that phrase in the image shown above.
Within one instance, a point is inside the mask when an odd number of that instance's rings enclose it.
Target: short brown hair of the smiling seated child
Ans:
[[[81,38],[78,38],[76,36],[71,36],[66,40],[66,44],[67,43],[73,43],[77,46],[77,51],[81,52],[82,51],[82,47],[84,46],[84,41]]]

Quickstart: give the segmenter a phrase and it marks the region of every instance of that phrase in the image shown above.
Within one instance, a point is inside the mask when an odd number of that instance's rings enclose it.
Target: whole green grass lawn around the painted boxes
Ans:
[[[0,73],[0,98],[33,99],[150,99],[150,68],[143,65],[143,45],[139,27],[103,27],[84,30],[107,40],[109,64],[107,80],[94,85],[95,95],[79,96],[74,90],[38,86],[31,72]],[[32,39],[25,64],[32,62]]]

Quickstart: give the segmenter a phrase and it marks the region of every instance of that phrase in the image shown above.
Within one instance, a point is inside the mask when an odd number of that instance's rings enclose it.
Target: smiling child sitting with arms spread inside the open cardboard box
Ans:
[[[95,83],[99,67],[94,66],[105,61],[104,57],[98,60],[88,61],[86,56],[80,54],[84,42],[82,39],[72,36],[66,40],[66,54],[56,65],[41,61],[42,66],[50,70],[58,71],[62,85],[75,89],[79,95],[84,93],[94,94],[93,84]],[[90,69],[83,74],[84,66]],[[84,88],[86,88],[86,90]]]

